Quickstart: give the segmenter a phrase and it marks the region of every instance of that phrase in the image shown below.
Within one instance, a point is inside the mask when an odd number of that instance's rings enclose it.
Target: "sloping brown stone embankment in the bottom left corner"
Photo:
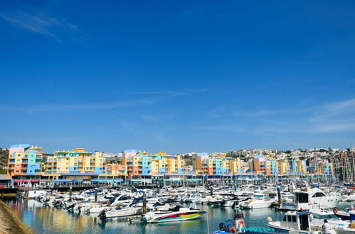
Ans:
[[[0,234],[8,233],[31,234],[32,231],[0,200]]]

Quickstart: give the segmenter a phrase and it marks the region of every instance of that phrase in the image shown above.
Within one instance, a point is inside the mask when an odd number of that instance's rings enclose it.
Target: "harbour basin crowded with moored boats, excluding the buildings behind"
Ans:
[[[307,184],[298,185],[307,188]],[[345,186],[323,186],[324,191],[309,189],[310,194],[324,194],[315,200],[309,199],[307,203],[312,204],[309,208],[302,208],[300,200],[304,198],[297,201],[301,191],[288,191],[288,187],[281,184],[164,186],[158,190],[105,186],[75,192],[31,189],[32,193],[22,191],[5,202],[34,233],[226,233],[226,230],[317,233],[322,230],[324,217],[329,219],[334,233],[355,233],[349,220],[341,221],[336,216],[338,212],[346,212],[346,208],[351,213],[352,203],[342,201],[346,197],[342,194],[348,190]],[[326,193],[339,195],[339,199],[336,203],[328,203]],[[290,194],[295,195],[292,201]],[[245,201],[255,207],[245,207]],[[277,206],[280,201],[293,202],[294,206],[290,211],[281,211],[281,206]],[[258,206],[260,203],[267,205]],[[290,226],[287,221],[300,224]]]

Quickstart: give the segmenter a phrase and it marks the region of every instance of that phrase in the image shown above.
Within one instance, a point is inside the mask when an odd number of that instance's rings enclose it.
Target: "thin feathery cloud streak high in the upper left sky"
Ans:
[[[46,35],[58,42],[62,42],[61,35],[67,34],[72,36],[73,33],[78,31],[78,26],[65,20],[50,17],[45,12],[25,13],[22,11],[6,11],[0,12],[0,18],[14,26],[33,33]]]

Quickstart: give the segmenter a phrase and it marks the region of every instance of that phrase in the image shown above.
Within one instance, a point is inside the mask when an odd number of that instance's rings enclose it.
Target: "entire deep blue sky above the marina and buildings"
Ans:
[[[354,1],[1,1],[0,147],[349,147]]]

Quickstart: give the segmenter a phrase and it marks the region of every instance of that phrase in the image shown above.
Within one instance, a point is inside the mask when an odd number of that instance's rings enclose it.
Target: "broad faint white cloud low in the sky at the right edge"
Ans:
[[[280,109],[220,106],[212,109],[208,117],[220,124],[207,122],[196,128],[255,135],[346,133],[355,130],[355,99]]]

